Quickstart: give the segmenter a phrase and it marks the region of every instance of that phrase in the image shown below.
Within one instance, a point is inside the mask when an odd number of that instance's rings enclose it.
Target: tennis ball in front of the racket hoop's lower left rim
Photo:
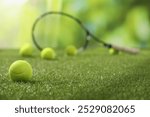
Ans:
[[[41,52],[42,59],[52,60],[55,59],[55,57],[56,57],[56,53],[52,48],[45,48]]]

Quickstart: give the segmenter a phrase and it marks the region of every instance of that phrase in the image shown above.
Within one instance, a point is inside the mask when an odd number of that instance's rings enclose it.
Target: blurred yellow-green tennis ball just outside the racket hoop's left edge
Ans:
[[[33,48],[30,44],[25,44],[20,48],[19,54],[21,56],[32,56]]]

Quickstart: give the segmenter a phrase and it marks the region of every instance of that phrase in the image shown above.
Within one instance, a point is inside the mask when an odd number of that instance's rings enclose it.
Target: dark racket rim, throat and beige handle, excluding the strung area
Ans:
[[[109,44],[109,43],[106,43],[104,42],[103,40],[97,38],[95,35],[93,35],[84,25],[83,23],[76,17],[70,15],[70,14],[67,14],[67,13],[64,13],[64,12],[57,12],[57,11],[49,11],[49,12],[46,12],[44,14],[42,14],[41,16],[39,16],[35,22],[33,23],[33,26],[32,26],[32,40],[33,40],[33,43],[35,44],[35,46],[41,51],[43,50],[43,47],[41,47],[37,41],[36,41],[36,38],[35,38],[35,29],[36,29],[36,26],[38,24],[38,22],[40,20],[42,20],[44,17],[48,16],[48,15],[61,15],[61,16],[66,16],[72,20],[74,20],[86,33],[86,37],[85,37],[85,43],[83,45],[82,48],[80,48],[79,50],[85,50],[87,47],[88,47],[88,44],[89,44],[89,41],[91,39],[94,39],[96,42],[98,43],[101,43],[104,45],[104,47],[106,48],[114,48],[118,51],[123,51],[123,52],[126,52],[126,53],[129,53],[129,54],[137,54],[139,53],[139,49],[137,48],[127,48],[127,47],[120,47],[120,46],[116,46],[116,45],[112,45],[112,44]]]

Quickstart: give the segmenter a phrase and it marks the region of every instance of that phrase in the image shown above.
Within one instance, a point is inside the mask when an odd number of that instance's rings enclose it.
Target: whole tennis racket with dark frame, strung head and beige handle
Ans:
[[[78,35],[79,33],[81,35]],[[76,34],[77,37],[71,36]],[[40,51],[45,47],[61,48],[67,44],[75,45],[79,48],[79,51],[82,51],[88,47],[91,40],[95,40],[106,48],[114,48],[129,54],[139,53],[139,49],[137,48],[120,47],[104,42],[93,35],[78,18],[64,12],[51,11],[39,16],[32,27],[32,40]]]

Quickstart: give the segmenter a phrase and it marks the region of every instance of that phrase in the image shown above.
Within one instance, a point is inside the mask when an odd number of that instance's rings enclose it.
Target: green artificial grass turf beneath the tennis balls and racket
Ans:
[[[150,52],[111,56],[107,50],[87,50],[57,60],[39,53],[23,58],[16,50],[0,50],[0,99],[150,99]],[[30,82],[13,82],[8,69],[18,59],[33,66]]]

